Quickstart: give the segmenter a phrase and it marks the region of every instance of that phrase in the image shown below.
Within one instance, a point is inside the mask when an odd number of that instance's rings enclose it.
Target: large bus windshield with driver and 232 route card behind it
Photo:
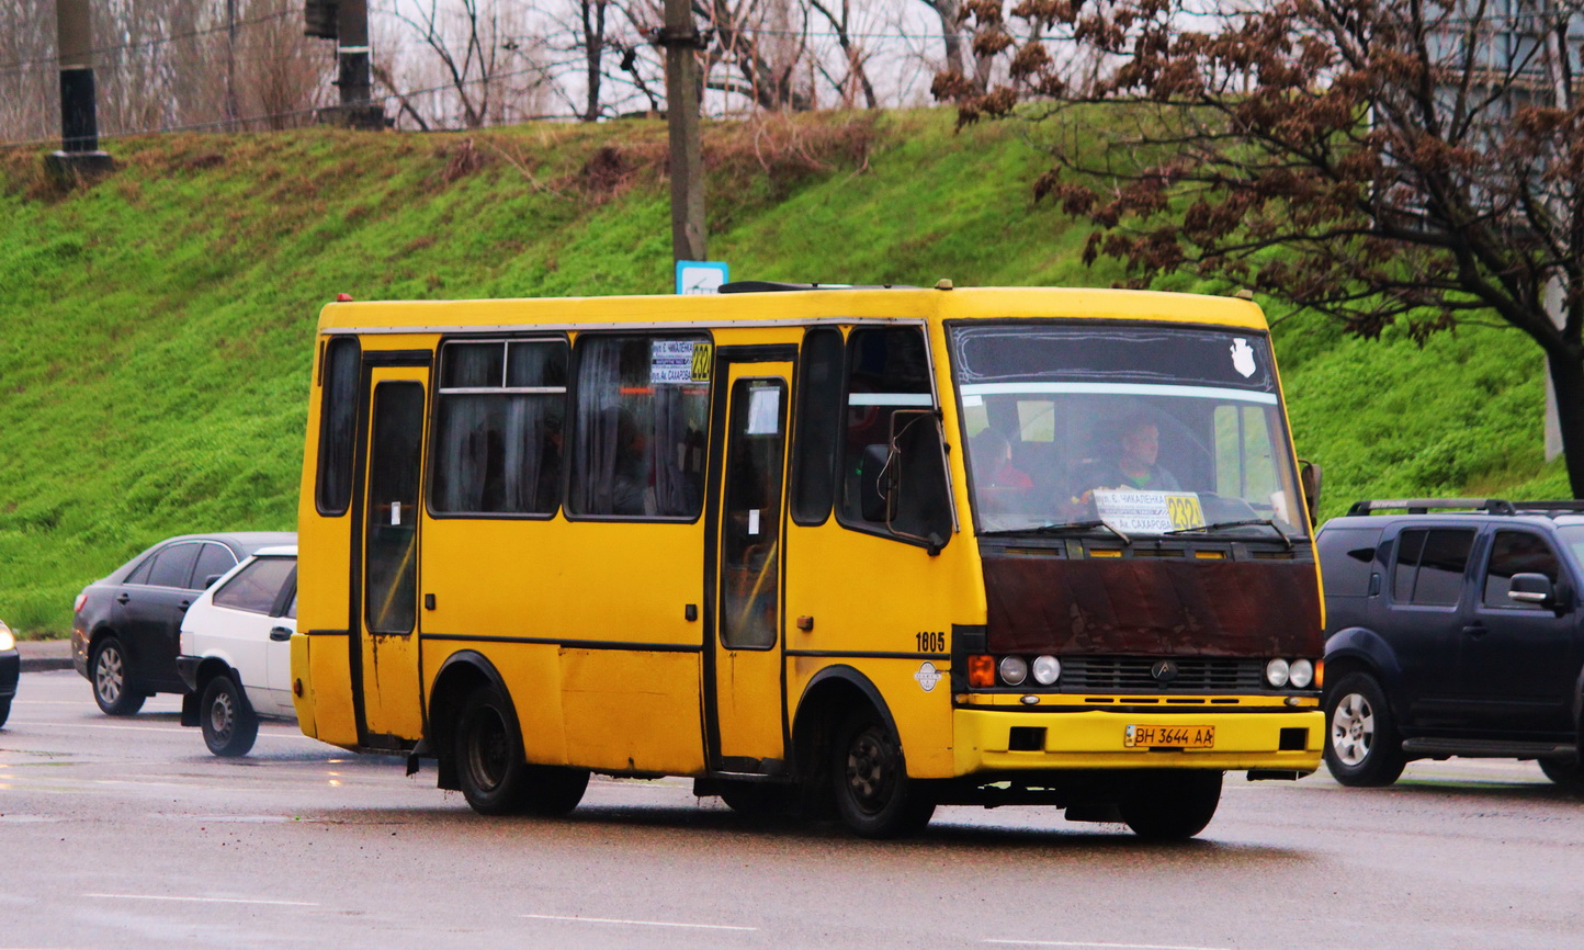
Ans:
[[[1267,337],[955,323],[980,534],[1305,535]]]

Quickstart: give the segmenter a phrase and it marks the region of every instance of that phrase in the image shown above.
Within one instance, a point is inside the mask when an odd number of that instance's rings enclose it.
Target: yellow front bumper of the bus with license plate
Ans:
[[[1072,768],[1218,768],[1310,774],[1319,768],[1319,709],[1131,712],[954,709],[957,774]],[[1129,733],[1129,727],[1133,732]],[[1210,732],[1207,732],[1210,730]],[[1205,743],[1204,747],[1129,744]]]

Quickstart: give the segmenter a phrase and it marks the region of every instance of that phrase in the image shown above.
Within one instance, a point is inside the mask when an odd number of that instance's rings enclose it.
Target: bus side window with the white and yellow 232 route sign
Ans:
[[[578,340],[572,515],[699,516],[713,359],[702,334]]]

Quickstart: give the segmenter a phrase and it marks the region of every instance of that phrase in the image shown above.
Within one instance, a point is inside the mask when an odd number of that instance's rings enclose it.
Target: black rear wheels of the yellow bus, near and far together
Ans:
[[[586,770],[527,763],[516,709],[493,684],[467,697],[451,750],[463,796],[482,815],[564,815],[589,784]]]

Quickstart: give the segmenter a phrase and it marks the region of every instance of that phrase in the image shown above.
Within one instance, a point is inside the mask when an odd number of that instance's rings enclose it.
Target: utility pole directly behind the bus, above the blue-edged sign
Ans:
[[[665,0],[665,125],[672,144],[672,258],[705,258],[703,149],[699,144],[699,59],[702,36],[689,0]]]

